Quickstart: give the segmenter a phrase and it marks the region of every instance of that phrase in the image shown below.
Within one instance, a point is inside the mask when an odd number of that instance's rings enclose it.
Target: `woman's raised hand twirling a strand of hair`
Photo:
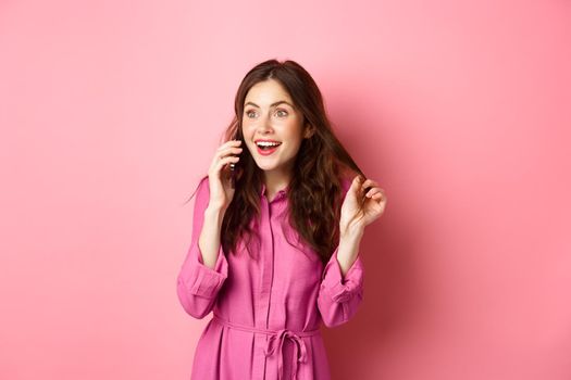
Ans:
[[[339,220],[340,233],[362,235],[364,227],[383,215],[386,206],[385,191],[372,179],[364,182],[361,176],[356,176],[347,190],[345,201],[342,205]],[[363,212],[359,213],[359,201],[365,188],[371,187],[365,194]]]

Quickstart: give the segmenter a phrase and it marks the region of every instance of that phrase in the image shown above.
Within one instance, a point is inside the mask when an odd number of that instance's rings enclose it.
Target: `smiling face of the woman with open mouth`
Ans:
[[[241,128],[256,164],[274,179],[289,179],[303,138],[303,115],[278,81],[268,79],[250,88],[244,100]],[[277,147],[260,147],[260,140],[275,141]]]

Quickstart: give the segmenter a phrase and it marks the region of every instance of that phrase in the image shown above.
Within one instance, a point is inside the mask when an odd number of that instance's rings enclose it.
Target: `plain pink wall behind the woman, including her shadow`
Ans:
[[[0,378],[188,379],[182,204],[269,58],[389,199],[334,379],[571,379],[564,0],[1,1]]]

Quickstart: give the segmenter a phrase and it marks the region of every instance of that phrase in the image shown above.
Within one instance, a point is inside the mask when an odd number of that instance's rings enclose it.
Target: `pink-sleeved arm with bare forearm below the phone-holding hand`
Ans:
[[[211,207],[209,199],[207,177],[197,190],[190,248],[176,280],[183,308],[199,319],[212,311],[228,274],[228,263],[220,243],[224,211]]]

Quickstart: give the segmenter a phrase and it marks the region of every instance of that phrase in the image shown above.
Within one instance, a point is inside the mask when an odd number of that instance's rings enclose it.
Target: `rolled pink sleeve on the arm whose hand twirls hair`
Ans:
[[[348,321],[363,299],[364,267],[358,256],[345,277],[337,262],[338,248],[331,256],[321,280],[318,307],[327,327]]]

